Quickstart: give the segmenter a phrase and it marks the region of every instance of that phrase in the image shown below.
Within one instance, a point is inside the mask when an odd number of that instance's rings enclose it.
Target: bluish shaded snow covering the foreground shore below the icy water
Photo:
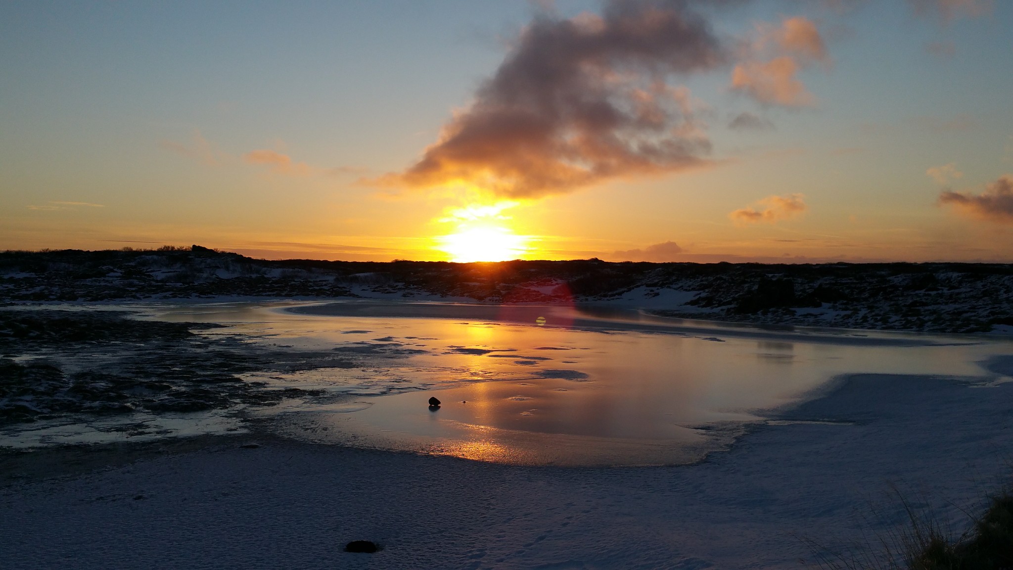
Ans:
[[[967,521],[957,507],[973,509],[1008,475],[1013,443],[1013,383],[973,387],[986,379],[842,378],[784,411],[784,425],[680,468],[223,439],[11,485],[0,546],[23,569],[798,568],[811,560],[800,537],[835,547],[902,522],[890,483],[944,522]],[[873,505],[890,515],[882,524],[863,521]],[[353,540],[384,550],[341,552]]]

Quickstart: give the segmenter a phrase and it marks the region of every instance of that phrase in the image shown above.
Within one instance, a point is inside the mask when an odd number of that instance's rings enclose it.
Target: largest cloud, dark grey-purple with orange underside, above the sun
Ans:
[[[695,101],[668,81],[727,54],[688,6],[611,0],[602,15],[538,14],[421,159],[372,183],[540,198],[709,163]]]

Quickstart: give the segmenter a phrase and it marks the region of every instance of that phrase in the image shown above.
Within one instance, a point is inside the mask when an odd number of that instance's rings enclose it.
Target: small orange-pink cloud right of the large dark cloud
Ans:
[[[764,104],[810,106],[815,97],[797,78],[812,64],[830,67],[831,60],[820,30],[810,20],[786,18],[780,26],[758,24],[759,35],[746,50],[745,61],[731,70],[731,89]],[[764,60],[762,54],[775,57]]]

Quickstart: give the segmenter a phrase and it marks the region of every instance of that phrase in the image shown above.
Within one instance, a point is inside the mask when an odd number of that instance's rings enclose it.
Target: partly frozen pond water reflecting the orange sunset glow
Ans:
[[[244,413],[300,439],[521,465],[693,462],[853,373],[996,379],[1003,339],[758,329],[608,307],[341,301],[145,306],[248,350],[341,366],[251,373],[323,390]],[[992,374],[995,376],[995,374]],[[888,381],[888,380],[884,380]],[[426,402],[442,405],[431,409]],[[230,429],[235,429],[233,426]]]

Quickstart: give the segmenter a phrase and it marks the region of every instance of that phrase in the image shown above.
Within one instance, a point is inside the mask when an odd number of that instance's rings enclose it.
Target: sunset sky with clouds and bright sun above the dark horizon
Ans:
[[[0,250],[1013,262],[1013,2],[0,3]]]

